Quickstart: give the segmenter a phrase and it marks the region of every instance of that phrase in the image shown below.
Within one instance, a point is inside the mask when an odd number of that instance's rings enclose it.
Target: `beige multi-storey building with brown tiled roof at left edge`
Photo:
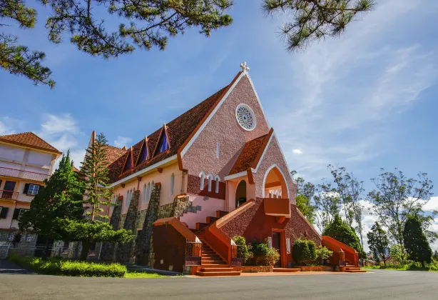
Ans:
[[[61,152],[31,132],[0,136],[0,241],[11,241]],[[31,241],[34,236],[22,236]]]

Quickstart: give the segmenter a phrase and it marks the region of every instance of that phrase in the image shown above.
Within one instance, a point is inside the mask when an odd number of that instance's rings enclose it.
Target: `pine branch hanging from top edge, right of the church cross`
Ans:
[[[287,51],[303,49],[312,41],[339,36],[357,14],[372,10],[374,0],[263,0],[267,15],[290,16],[281,29]]]

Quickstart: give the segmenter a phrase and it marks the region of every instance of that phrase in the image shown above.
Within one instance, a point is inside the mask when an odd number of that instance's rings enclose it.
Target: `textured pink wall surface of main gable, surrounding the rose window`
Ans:
[[[247,104],[253,109],[257,126],[253,131],[245,131],[235,118],[235,109],[239,104]],[[195,142],[183,156],[183,168],[189,174],[198,176],[218,174],[221,181],[228,175],[246,141],[268,134],[263,111],[247,76],[243,76],[231,91],[228,98],[216,111]],[[220,157],[216,157],[216,143],[220,143]]]

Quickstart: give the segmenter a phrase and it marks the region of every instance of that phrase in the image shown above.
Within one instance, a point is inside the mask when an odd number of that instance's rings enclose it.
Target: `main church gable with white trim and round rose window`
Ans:
[[[270,127],[246,71],[240,72],[215,109],[181,151],[183,169],[223,180],[245,143],[268,134]]]

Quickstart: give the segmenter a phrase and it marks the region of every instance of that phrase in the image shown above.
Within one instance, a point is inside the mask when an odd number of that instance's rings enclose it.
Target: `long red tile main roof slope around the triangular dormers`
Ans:
[[[126,153],[124,153],[123,155],[119,156],[118,159],[116,159],[116,161],[114,161],[109,166],[111,182],[115,182],[120,179],[123,179],[126,176],[134,174],[142,169],[146,169],[148,166],[152,166],[153,164],[156,164],[159,161],[163,161],[164,159],[167,159],[170,156],[177,154],[178,149],[180,149],[180,146],[183,146],[185,140],[190,137],[190,134],[192,134],[193,131],[195,131],[198,124],[200,124],[200,122],[203,120],[205,115],[208,114],[210,109],[215,105],[216,101],[218,101],[220,96],[223,94],[223,91],[225,91],[225,89],[227,88],[228,86],[225,86],[223,89],[220,89],[215,94],[211,95],[210,97],[202,101],[200,104],[194,106],[192,109],[189,109],[184,114],[181,114],[180,116],[178,116],[177,118],[173,119],[172,121],[166,124],[168,140],[170,144],[170,149],[168,149],[167,151],[164,151],[161,154],[153,156],[151,159],[148,159],[147,161],[138,164],[138,166],[134,166],[133,169],[126,171],[123,174],[121,174],[121,172],[128,151],[126,151]],[[160,138],[162,128],[163,127],[154,131],[152,134],[148,135],[148,146],[150,151],[156,149],[156,144],[158,143],[158,139]],[[133,163],[137,161],[138,155],[140,155],[143,141],[144,138],[141,139],[141,141],[139,141],[137,144],[135,144],[132,147]]]

